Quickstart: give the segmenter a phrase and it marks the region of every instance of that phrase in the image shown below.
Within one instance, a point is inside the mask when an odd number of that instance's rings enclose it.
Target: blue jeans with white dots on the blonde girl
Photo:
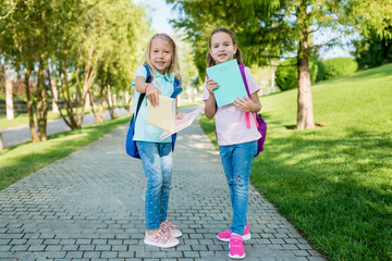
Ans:
[[[147,177],[146,227],[158,229],[167,220],[173,166],[172,145],[136,141]]]

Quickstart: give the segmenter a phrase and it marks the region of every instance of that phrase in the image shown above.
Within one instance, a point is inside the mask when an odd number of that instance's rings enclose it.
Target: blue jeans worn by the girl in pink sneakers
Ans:
[[[230,232],[243,235],[246,225],[250,167],[257,152],[257,140],[219,146],[219,148],[233,208]]]

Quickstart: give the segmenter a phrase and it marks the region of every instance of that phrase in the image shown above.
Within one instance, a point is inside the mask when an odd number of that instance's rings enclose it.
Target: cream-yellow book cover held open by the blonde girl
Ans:
[[[159,105],[155,108],[147,99],[147,123],[173,133],[175,124],[175,99],[159,96]]]

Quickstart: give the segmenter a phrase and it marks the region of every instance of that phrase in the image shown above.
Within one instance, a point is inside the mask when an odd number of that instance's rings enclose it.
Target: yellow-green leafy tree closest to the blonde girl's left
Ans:
[[[142,7],[131,8],[126,1],[108,1],[107,4],[102,10],[106,21],[100,28],[98,44],[102,54],[96,63],[98,110],[91,100],[96,123],[103,121],[103,101],[107,101],[111,117],[117,116],[112,97],[119,97],[131,87],[147,37],[152,34]]]

